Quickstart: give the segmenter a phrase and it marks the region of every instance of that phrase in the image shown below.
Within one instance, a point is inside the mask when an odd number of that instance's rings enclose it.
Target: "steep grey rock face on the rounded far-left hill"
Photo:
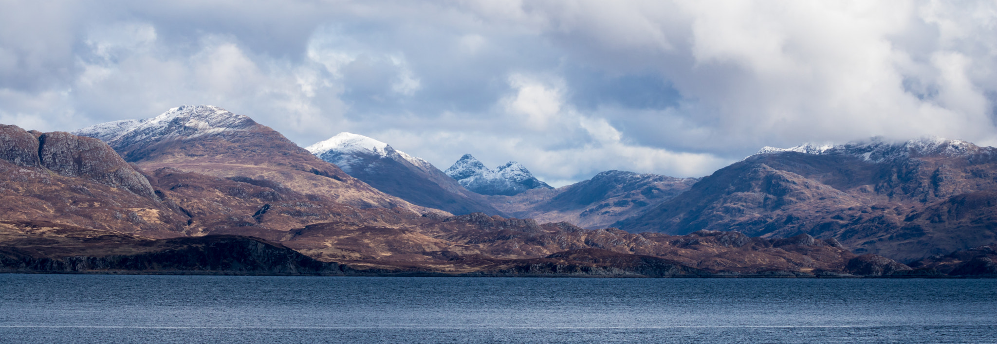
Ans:
[[[38,155],[46,169],[156,197],[149,180],[100,140],[55,132],[43,134],[38,142]]]

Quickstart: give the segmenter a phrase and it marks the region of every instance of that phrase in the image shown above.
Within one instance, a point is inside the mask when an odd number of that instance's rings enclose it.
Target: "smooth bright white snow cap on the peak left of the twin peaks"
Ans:
[[[353,133],[340,133],[329,140],[306,147],[305,150],[326,162],[335,164],[344,172],[361,168],[359,165],[364,164],[361,156],[398,158],[426,172],[436,169],[423,159],[412,157],[388,144]]]

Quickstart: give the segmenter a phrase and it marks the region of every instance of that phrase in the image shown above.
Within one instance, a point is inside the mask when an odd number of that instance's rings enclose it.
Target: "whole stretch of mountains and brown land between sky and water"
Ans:
[[[0,272],[997,276],[997,149],[764,148],[711,175],[551,187],[343,133],[300,148],[212,106],[0,125]]]

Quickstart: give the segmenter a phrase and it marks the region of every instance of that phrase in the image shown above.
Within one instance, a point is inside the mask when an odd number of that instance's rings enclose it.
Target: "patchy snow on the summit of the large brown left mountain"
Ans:
[[[192,139],[224,132],[251,130],[256,123],[209,105],[180,106],[152,119],[124,120],[90,126],[71,134],[97,138],[112,147],[168,139]]]

